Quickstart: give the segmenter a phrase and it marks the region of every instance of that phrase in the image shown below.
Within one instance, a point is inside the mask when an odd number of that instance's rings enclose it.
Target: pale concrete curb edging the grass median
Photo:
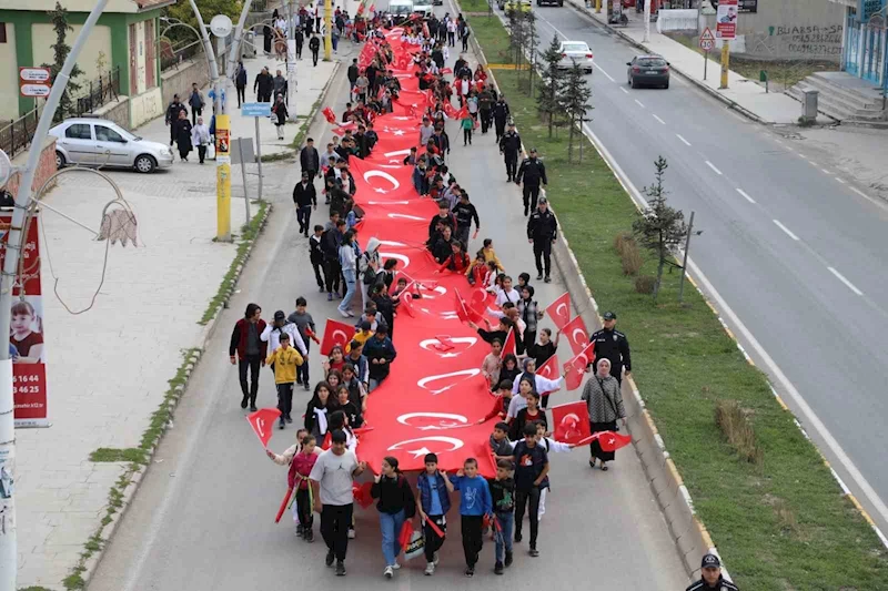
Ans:
[[[458,0],[454,0],[454,3],[458,6]],[[475,40],[474,34],[472,35],[472,48],[478,61],[486,65],[486,55]],[[488,69],[487,75],[490,75],[493,83],[498,88],[494,72]],[[586,135],[585,131],[583,131],[583,134]],[[610,162],[604,156],[601,150],[598,150],[595,142],[588,136],[586,136],[586,139],[592,143],[596,152],[598,152],[598,156],[610,169],[614,177],[620,182],[610,166]],[[524,146],[522,146],[522,152],[524,152]],[[620,185],[623,185],[622,182]],[[629,192],[625,186],[624,191],[626,191],[626,195],[629,196]],[[543,194],[545,194],[545,191],[543,191]],[[633,203],[635,202],[633,201]],[[552,207],[552,212],[555,214],[554,207]],[[555,214],[555,217],[557,220],[557,214]],[[571,300],[574,303],[577,314],[583,316],[584,322],[587,323],[586,326],[592,326],[594,329],[601,328],[604,324],[598,314],[598,304],[592,295],[588,282],[581,271],[579,263],[571,249],[571,245],[563,232],[558,233],[558,241],[553,249],[553,256],[555,258],[555,265],[565,279],[567,292],[571,294]],[[696,284],[694,285],[696,287]],[[588,305],[581,306],[581,303],[588,303]],[[669,533],[682,557],[682,563],[688,575],[693,575],[695,571],[699,570],[699,560],[703,554],[712,552],[718,556],[719,559],[722,557],[715,548],[706,526],[704,526],[703,521],[696,516],[690,493],[687,487],[685,487],[684,480],[678,473],[678,469],[669,458],[669,452],[663,442],[663,438],[659,436],[654,419],[645,408],[645,401],[635,385],[635,380],[632,378],[626,379],[623,389],[624,391],[626,389],[632,391],[632,396],[624,396],[623,400],[628,407],[628,430],[629,435],[633,437],[635,452],[642,461],[642,467],[647,475],[650,489],[666,519]],[[722,562],[722,570],[725,579],[730,581],[730,574],[727,569],[724,568],[724,560]]]

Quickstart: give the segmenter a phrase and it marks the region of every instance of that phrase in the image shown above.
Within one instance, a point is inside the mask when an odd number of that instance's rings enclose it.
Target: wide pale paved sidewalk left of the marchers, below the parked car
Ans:
[[[341,47],[341,53],[343,49],[351,45]],[[272,74],[279,68],[271,59],[245,61],[251,84],[265,64]],[[335,62],[312,68],[311,59],[303,57],[295,96],[296,113],[303,119],[300,125],[286,126],[286,140],[281,142],[273,125],[260,121],[263,153],[290,150],[289,143],[319,102],[334,68]],[[253,100],[251,91],[252,86],[248,100]],[[252,118],[240,115],[235,96],[229,98],[229,105],[232,136],[252,137]],[[169,143],[162,119],[138,133]],[[83,315],[65,313],[53,295],[50,265],[59,277],[60,296],[72,310],[80,310],[90,305],[100,285],[105,245],[43,210],[41,271],[52,426],[17,431],[19,588],[63,588],[62,580],[79,563],[89,538],[100,530],[109,490],[127,466],[92,462],[90,454],[102,447],[138,447],[151,414],[170,388],[168,380],[182,364],[183,351],[203,347],[208,336],[208,328],[198,320],[235,261],[238,243],[213,242],[215,165],[208,162],[201,166],[194,153],[190,160],[148,175],[109,172],[135,211],[140,244],[138,248],[110,248],[104,283],[94,306]],[[246,215],[240,170],[238,165],[232,169],[231,225],[236,235]],[[265,198],[273,198],[282,192],[289,194],[299,167],[266,164],[263,172]],[[255,174],[249,176],[249,183],[254,196]],[[62,176],[46,203],[98,228],[102,207],[112,198],[107,183],[83,173]],[[253,206],[252,214],[256,211]],[[163,466],[155,469],[163,470]]]

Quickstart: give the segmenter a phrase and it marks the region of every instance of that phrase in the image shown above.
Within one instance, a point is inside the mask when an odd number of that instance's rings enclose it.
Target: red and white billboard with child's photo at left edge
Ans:
[[[11,214],[0,213],[0,232],[8,240]],[[2,266],[0,254],[0,266]],[[23,287],[23,289],[22,289]],[[12,396],[16,427],[44,427],[47,418],[47,350],[43,342],[43,296],[40,291],[38,221],[28,227],[21,277],[12,293],[9,355],[12,358]]]

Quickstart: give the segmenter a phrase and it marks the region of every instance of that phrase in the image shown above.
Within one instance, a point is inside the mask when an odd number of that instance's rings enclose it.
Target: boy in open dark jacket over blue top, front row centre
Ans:
[[[425,455],[425,472],[416,479],[416,498],[420,500],[416,508],[425,534],[425,575],[435,573],[438,557],[437,551],[444,544],[444,533],[447,531],[447,511],[451,509],[450,492],[453,483],[446,472],[437,469],[437,456]]]

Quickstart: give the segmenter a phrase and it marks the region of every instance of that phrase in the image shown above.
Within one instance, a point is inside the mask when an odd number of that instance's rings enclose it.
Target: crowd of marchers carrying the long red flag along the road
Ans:
[[[518,166],[521,139],[508,119],[505,98],[487,82],[483,68],[473,71],[462,55],[452,70],[445,68],[447,48],[453,47],[456,33],[463,40],[467,37],[462,16],[433,21],[404,23],[401,41],[420,50],[411,62],[398,64],[382,32],[392,23],[384,17],[370,21],[366,31],[376,35],[377,51],[369,63],[354,60],[349,68],[351,101],[341,116],[325,110],[327,120],[337,126],[336,133],[323,150],[309,139],[300,153],[302,177],[293,190],[299,234],[307,240],[319,293],[339,302],[340,315],[354,323],[353,336],[324,355],[324,375],[312,380],[310,348],[312,342],[321,342],[306,297],[296,298],[290,314],[275,312],[270,322],[263,319],[259,305],[250,304],[231,335],[230,356],[239,367],[242,408],[258,410],[259,374],[265,365],[275,379],[280,429],[293,422],[294,389],[301,386],[311,393],[295,444],[282,454],[269,450],[268,456],[289,467],[287,486],[295,493],[293,517],[301,539],[314,540],[314,513],[320,514],[320,532],[327,547],[325,563],[335,567],[337,575],[346,573],[349,540],[355,537],[355,501],[376,505],[385,578],[393,578],[401,569],[397,559],[402,551],[408,558],[424,556],[424,573],[435,573],[455,493],[460,495],[466,577],[475,574],[485,538],[494,540],[496,574],[513,564],[515,544],[524,540],[525,516],[529,522],[527,554],[538,557],[539,523],[549,489],[549,454],[569,451],[577,445],[557,440],[547,419],[549,395],[565,385],[572,369],[566,364],[562,375],[557,367],[556,351],[565,335],[561,329],[553,334],[539,326],[544,310],[534,299],[532,275],[519,273],[513,279],[493,240],[478,240],[478,212],[447,165],[451,141],[446,122],[460,121],[465,146],[471,145],[476,129],[482,134],[494,131],[507,181],[524,182],[527,238],[533,243],[536,279],[549,283],[557,224],[545,196],[539,195],[541,186],[547,183],[545,166],[535,151]],[[398,159],[412,169],[413,186],[421,198],[433,200],[438,208],[428,222],[425,247],[438,265],[435,273],[464,275],[468,285],[487,294],[487,309],[467,322],[490,344],[481,373],[495,395],[495,404],[477,420],[492,425],[488,445],[495,473],[486,478],[478,472],[477,458],[465,459],[460,470],[447,473],[438,468],[436,454],[430,452],[424,457],[424,470],[414,480],[400,470],[395,457],[367,466],[355,454],[361,431],[367,428],[367,399],[389,378],[397,359],[393,334],[401,296],[418,296],[407,293],[408,282],[398,269],[398,261],[383,258],[380,240],[360,236],[364,212],[355,204],[356,185],[350,164],[353,159],[373,154],[379,141],[374,120],[392,112],[402,94],[396,72],[408,65],[418,78],[418,88],[428,90],[433,99],[430,106],[413,113],[422,122],[416,145]],[[452,81],[445,78],[451,73]],[[320,201],[315,179],[323,181],[321,195],[329,206],[329,220],[312,225],[312,213]],[[594,357],[583,357],[586,363],[581,368],[593,374],[581,396],[593,436],[615,432],[618,424],[626,425],[620,380],[624,370],[626,375],[632,370],[632,361],[628,342],[615,324],[616,315],[606,313],[604,328],[581,347],[595,348]],[[614,460],[613,449],[597,439],[589,449],[589,466],[607,470]],[[354,479],[365,470],[373,472],[372,481],[357,487]],[[410,533],[414,517],[421,522],[418,536]],[[417,539],[421,542],[414,544]],[[717,557],[704,559],[704,581],[710,580],[707,577],[718,565]],[[722,581],[716,574],[712,580]]]

